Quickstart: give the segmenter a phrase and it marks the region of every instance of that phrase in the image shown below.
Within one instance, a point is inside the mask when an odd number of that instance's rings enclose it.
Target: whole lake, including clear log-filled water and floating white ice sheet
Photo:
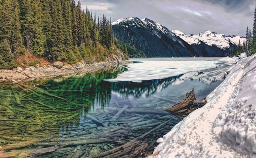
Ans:
[[[202,101],[229,68],[218,58],[132,60],[72,78],[0,83],[0,146],[28,158],[146,156],[181,121],[165,109],[192,88]]]

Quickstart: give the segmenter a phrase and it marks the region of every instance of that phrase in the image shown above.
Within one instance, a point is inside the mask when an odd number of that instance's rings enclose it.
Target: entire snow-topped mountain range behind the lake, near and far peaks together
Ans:
[[[148,18],[121,18],[112,23],[112,30],[119,41],[142,51],[146,57],[223,57],[229,55],[229,46],[237,44],[233,41],[238,39],[209,30],[185,35]]]

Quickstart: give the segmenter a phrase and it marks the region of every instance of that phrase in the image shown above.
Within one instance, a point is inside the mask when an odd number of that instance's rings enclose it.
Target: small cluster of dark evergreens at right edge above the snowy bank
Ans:
[[[254,11],[253,30],[247,26],[246,28],[246,41],[241,45],[240,41],[238,46],[229,48],[229,56],[238,56],[240,53],[245,52],[247,56],[256,53],[256,8]]]

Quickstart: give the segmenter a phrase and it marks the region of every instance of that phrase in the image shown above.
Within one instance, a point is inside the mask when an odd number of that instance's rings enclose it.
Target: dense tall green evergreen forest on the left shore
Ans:
[[[73,64],[117,52],[111,18],[82,10],[80,0],[0,0],[0,13],[0,69],[26,53]]]

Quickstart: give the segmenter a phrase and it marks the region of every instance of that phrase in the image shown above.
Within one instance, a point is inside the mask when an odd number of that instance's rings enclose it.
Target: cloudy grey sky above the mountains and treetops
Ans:
[[[81,0],[94,15],[112,22],[119,18],[148,18],[185,34],[210,30],[224,35],[246,35],[252,30],[256,0]]]

